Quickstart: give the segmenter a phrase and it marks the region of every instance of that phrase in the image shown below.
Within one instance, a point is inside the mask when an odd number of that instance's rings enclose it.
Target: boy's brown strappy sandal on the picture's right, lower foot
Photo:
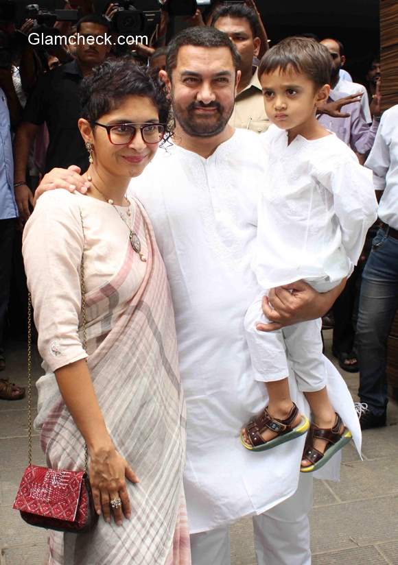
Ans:
[[[342,431],[340,431],[341,427]],[[324,453],[314,447],[315,439],[325,440],[327,442]],[[337,412],[336,422],[333,428],[318,428],[316,424],[311,424],[307,440],[305,440],[303,459],[311,461],[312,464],[301,466],[301,472],[309,473],[320,469],[335,453],[344,447],[345,444],[348,444],[351,439],[351,431],[343,425],[342,419]]]

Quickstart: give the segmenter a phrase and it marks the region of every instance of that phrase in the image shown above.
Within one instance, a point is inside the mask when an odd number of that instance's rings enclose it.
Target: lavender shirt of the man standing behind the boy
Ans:
[[[345,96],[349,95],[342,93],[336,95],[335,93],[331,93],[328,101],[336,101]],[[342,107],[341,111],[347,112],[351,114],[351,116],[348,118],[332,118],[327,114],[321,114],[320,117],[318,117],[318,121],[322,123],[327,130],[335,133],[344,143],[347,143],[353,151],[361,154],[367,153],[372,148],[373,142],[375,141],[379,122],[373,119],[371,124],[366,123],[359,102],[347,104],[347,106]]]

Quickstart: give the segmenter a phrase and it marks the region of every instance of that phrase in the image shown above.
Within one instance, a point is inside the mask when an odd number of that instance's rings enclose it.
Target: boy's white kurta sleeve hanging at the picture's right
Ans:
[[[348,149],[348,148],[347,148]],[[349,150],[317,170],[318,181],[333,194],[342,245],[353,265],[358,263],[366,232],[377,219],[377,200],[370,171]]]

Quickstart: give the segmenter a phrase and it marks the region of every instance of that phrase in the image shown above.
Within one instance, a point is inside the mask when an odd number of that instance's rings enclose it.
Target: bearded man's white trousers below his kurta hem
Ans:
[[[260,516],[253,516],[258,565],[311,565],[308,513],[312,477],[301,474],[293,496]],[[250,543],[250,540],[248,540]],[[246,540],[242,540],[242,546]],[[229,527],[191,534],[192,565],[230,565]]]

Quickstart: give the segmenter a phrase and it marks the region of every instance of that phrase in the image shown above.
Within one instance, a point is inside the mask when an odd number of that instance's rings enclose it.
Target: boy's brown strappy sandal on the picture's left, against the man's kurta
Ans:
[[[250,443],[246,442],[244,430],[242,430],[240,434],[240,440],[244,447],[251,451],[264,451],[266,449],[277,447],[285,442],[289,442],[290,440],[295,440],[296,437],[300,437],[307,431],[307,429],[309,429],[309,421],[304,414],[301,414],[299,424],[296,424],[294,427],[292,426],[298,415],[299,409],[296,407],[294,402],[292,410],[290,411],[288,418],[285,420],[272,418],[268,410],[264,408],[259,416],[250,420],[250,422],[248,422],[248,424],[244,427]],[[264,442],[261,437],[261,433],[264,433],[266,429],[270,429],[277,433],[277,436],[268,442]]]

